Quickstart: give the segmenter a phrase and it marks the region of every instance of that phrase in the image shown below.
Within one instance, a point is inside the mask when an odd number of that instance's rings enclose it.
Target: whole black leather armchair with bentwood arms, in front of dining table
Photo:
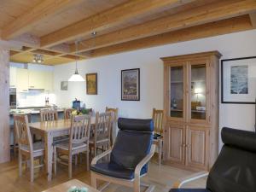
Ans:
[[[118,120],[119,132],[113,148],[96,156],[90,166],[91,184],[96,188],[96,179],[108,183],[118,183],[140,191],[140,177],[148,172],[148,161],[154,154],[152,145],[154,124],[152,119]],[[99,162],[102,157],[110,154],[109,162]],[[147,191],[154,186],[146,185]]]

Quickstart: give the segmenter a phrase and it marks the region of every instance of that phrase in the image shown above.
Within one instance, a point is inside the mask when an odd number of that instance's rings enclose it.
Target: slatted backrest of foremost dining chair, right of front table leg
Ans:
[[[73,144],[87,143],[89,146],[90,139],[90,115],[77,115],[71,116],[71,130],[69,137],[69,148],[73,147]]]

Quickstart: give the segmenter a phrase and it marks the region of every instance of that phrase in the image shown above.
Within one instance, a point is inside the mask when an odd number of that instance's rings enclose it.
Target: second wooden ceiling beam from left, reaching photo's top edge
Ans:
[[[163,11],[190,3],[195,0],[132,0],[123,3],[113,9],[108,9],[101,14],[90,16],[85,20],[81,20],[45,35],[41,38],[42,47],[50,47],[55,44],[61,44],[76,38],[81,38],[85,35],[90,35],[91,32],[99,32],[106,28],[118,26],[123,22],[135,19],[154,11]]]

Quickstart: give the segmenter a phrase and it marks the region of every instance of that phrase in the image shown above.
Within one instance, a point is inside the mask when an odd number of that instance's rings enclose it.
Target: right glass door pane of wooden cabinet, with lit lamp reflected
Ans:
[[[191,119],[206,119],[206,64],[191,65]]]

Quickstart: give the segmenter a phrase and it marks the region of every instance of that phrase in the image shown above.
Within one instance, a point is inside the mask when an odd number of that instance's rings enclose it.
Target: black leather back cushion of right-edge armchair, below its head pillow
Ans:
[[[224,145],[207,178],[212,192],[256,191],[256,153]]]

